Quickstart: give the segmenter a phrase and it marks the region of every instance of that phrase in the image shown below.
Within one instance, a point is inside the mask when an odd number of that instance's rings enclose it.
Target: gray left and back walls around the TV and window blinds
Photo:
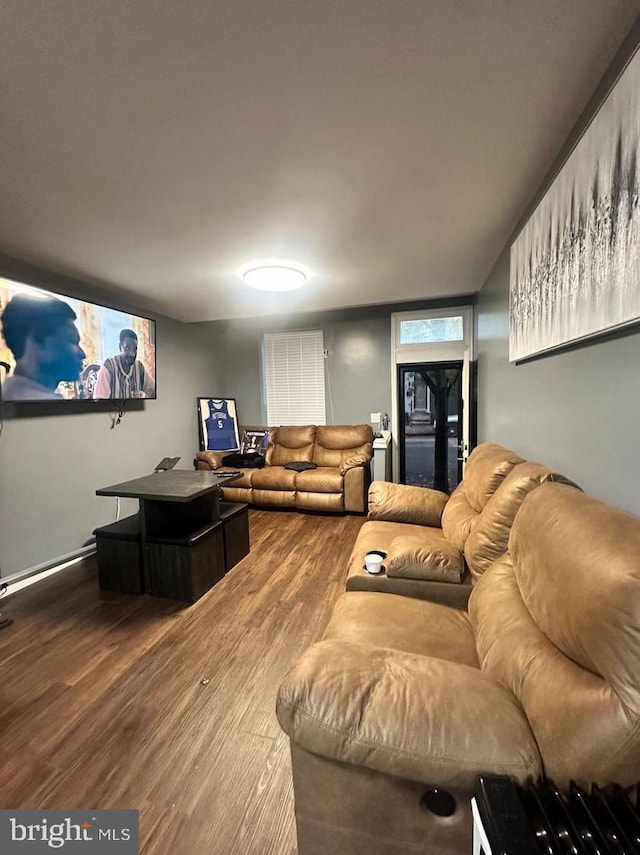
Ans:
[[[115,519],[116,500],[99,487],[151,471],[164,456],[191,468],[198,449],[196,398],[235,398],[242,424],[265,424],[263,332],[322,329],[327,357],[327,423],[367,423],[391,413],[391,313],[441,304],[401,304],[244,321],[182,324],[154,316],[86,284],[0,257],[0,275],[157,321],[156,401],[129,402],[111,428],[106,405],[4,404],[0,438],[0,572],[3,577],[76,553],[93,529]],[[454,301],[455,302],[455,301]],[[468,298],[460,302],[468,303]],[[330,394],[329,394],[330,393]],[[38,415],[33,415],[37,407]],[[137,503],[121,500],[121,516]]]

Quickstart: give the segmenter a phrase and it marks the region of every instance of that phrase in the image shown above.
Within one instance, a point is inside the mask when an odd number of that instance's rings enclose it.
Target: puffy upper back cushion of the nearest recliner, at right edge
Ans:
[[[509,540],[524,604],[565,656],[611,684],[640,737],[640,519],[564,485],[544,484],[525,507]]]

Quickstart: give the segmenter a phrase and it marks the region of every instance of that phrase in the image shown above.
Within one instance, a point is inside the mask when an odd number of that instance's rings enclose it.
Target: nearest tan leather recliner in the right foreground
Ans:
[[[481,773],[564,789],[640,779],[640,519],[550,478],[511,518],[483,517],[512,464],[458,517],[465,556],[475,533],[490,565],[468,608],[348,590],[280,687],[300,855],[470,852]],[[449,815],[427,806],[436,790]]]

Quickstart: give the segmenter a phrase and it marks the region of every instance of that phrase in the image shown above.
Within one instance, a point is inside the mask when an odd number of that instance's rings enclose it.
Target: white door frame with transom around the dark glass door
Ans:
[[[400,343],[400,322],[432,318],[462,317],[463,335],[460,341]],[[473,306],[449,306],[440,309],[422,309],[412,312],[393,312],[391,315],[391,454],[393,480],[400,474],[400,418],[398,412],[398,367],[421,362],[462,362],[462,473],[470,451],[472,410],[471,364],[475,359],[473,334]]]

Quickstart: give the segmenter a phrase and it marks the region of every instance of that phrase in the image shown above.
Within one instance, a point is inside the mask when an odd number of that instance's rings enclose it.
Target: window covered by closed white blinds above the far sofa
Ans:
[[[326,424],[322,330],[265,333],[262,370],[267,424]]]

